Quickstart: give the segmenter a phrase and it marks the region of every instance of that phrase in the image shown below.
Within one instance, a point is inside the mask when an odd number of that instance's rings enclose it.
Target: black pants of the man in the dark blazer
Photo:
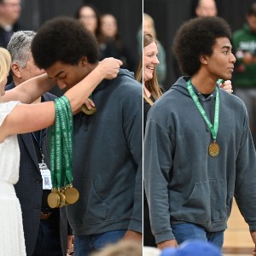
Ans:
[[[38,240],[32,256],[62,256],[60,210],[52,209],[47,219],[41,219]]]

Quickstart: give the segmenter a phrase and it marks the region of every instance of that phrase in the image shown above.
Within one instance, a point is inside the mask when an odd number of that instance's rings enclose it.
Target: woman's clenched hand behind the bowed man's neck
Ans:
[[[123,65],[122,61],[111,57],[100,61],[97,67],[100,69],[104,79],[114,79],[117,77],[121,65]]]

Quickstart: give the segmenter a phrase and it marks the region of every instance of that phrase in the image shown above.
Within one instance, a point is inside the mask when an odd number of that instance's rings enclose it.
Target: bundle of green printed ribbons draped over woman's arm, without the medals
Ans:
[[[66,96],[55,99],[55,125],[50,128],[50,170],[54,189],[71,185],[73,114]]]

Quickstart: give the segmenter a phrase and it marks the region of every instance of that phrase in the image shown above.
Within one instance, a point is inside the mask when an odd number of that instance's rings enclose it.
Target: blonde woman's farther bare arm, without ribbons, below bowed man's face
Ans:
[[[32,103],[42,96],[44,92],[52,89],[56,84],[55,80],[49,79],[46,73],[26,80],[26,82],[16,86],[12,90],[5,91],[2,96],[3,102],[20,101],[22,103]]]

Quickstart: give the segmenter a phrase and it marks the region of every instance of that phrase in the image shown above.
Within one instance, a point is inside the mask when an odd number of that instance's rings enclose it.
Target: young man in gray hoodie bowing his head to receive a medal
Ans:
[[[79,20],[56,18],[32,42],[38,67],[68,89],[97,65],[96,38]],[[127,70],[92,93],[96,112],[73,118],[73,186],[67,207],[75,254],[88,255],[121,238],[142,239],[142,85]]]

